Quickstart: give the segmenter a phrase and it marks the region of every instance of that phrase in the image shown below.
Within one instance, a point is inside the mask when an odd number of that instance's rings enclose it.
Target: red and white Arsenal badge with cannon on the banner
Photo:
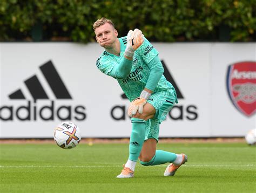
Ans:
[[[256,112],[256,61],[228,66],[227,91],[238,111],[246,116]]]

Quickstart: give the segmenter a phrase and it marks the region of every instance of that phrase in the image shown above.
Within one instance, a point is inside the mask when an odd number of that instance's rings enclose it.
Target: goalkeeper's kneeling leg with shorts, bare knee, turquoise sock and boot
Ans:
[[[171,163],[165,171],[166,175],[174,175],[176,170],[187,161],[185,154],[174,154],[163,150],[156,149],[159,136],[159,124],[166,119],[166,115],[171,111],[172,107],[177,103],[177,95],[174,89],[153,93],[148,102],[156,108],[156,114],[153,119],[149,120],[147,127],[146,140],[140,154],[140,163],[144,166],[154,166],[163,163]]]

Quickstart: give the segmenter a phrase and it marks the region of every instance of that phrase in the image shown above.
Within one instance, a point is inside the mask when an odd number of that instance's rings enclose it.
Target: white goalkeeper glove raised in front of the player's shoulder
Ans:
[[[134,31],[130,30],[127,34],[127,45],[125,49],[125,56],[133,58],[134,51],[138,49],[140,45],[144,42],[144,35],[142,31],[135,29]]]

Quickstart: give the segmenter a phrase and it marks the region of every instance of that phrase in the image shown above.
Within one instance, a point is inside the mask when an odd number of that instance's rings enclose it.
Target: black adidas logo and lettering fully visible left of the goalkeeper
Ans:
[[[57,100],[72,99],[71,94],[51,61],[41,65],[40,70]],[[83,105],[74,106],[72,102],[68,102],[68,104],[65,102],[65,105],[57,105],[56,100],[50,100],[37,75],[32,75],[32,77],[26,79],[24,84],[28,88],[33,101],[26,100],[22,89],[17,89],[9,94],[9,99],[19,100],[19,105],[0,106],[0,120],[12,121],[18,119],[20,121],[36,121],[41,119],[52,121],[56,118],[59,120],[85,120],[86,114]],[[42,102],[37,102],[43,99],[43,105]]]

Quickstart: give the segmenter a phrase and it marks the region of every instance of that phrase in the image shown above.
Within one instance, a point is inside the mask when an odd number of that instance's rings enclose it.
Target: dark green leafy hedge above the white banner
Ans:
[[[256,0],[1,0],[0,41],[94,42],[101,17],[154,42],[256,40]]]

